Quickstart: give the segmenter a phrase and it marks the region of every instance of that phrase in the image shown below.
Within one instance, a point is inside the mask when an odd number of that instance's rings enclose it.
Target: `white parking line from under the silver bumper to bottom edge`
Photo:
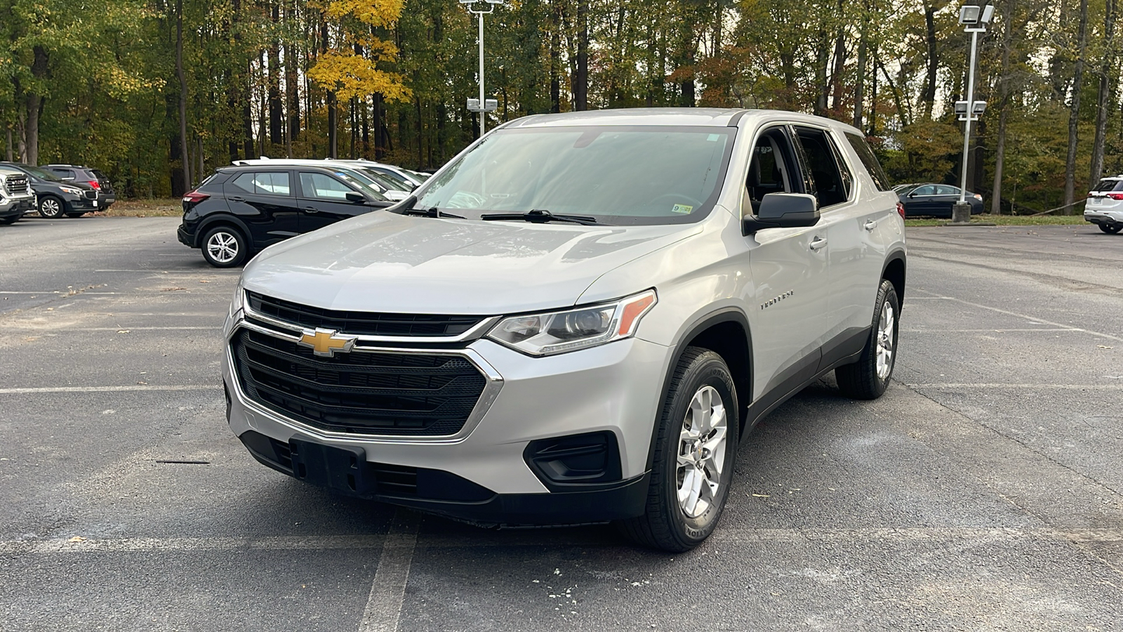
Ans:
[[[402,615],[405,583],[410,578],[410,563],[418,542],[418,515],[398,509],[390,525],[390,533],[382,545],[378,570],[374,574],[371,596],[363,610],[359,632],[394,632]]]

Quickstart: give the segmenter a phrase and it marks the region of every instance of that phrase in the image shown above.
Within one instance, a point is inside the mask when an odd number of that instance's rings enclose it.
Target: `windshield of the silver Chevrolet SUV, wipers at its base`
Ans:
[[[697,222],[716,202],[734,133],[669,126],[499,129],[429,180],[417,206],[478,214],[549,210],[605,224]]]

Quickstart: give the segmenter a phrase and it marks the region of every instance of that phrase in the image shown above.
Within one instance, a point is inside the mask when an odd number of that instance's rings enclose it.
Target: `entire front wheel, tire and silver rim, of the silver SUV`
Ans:
[[[688,347],[664,400],[647,511],[620,524],[624,535],[673,552],[709,538],[729,496],[739,428],[737,389],[725,361]]]

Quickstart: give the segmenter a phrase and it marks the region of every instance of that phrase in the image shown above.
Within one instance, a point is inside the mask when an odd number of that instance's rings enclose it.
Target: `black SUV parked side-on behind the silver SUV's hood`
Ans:
[[[183,196],[176,236],[211,265],[232,268],[265,246],[392,204],[341,169],[223,166]]]

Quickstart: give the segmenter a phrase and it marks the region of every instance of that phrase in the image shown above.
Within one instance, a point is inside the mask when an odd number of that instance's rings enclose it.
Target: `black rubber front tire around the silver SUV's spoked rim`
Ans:
[[[710,387],[711,390],[706,390]],[[679,469],[678,457],[686,445],[682,439],[684,428],[694,419],[691,403],[695,396],[705,392],[716,392],[724,408],[724,444],[721,461],[710,461],[709,473],[713,475],[714,466],[718,472],[718,490],[710,496],[705,508],[697,516],[691,517],[678,499]],[[711,407],[712,409],[712,407]],[[651,461],[651,482],[647,494],[647,511],[637,518],[619,523],[620,531],[633,542],[661,551],[681,552],[697,547],[713,533],[725,507],[730,482],[733,478],[733,462],[737,458],[737,439],[740,423],[737,403],[737,389],[729,367],[713,351],[696,346],[687,347],[675,367],[670,385],[664,398],[663,412],[659,416],[658,435],[655,440],[655,454]],[[716,426],[716,422],[714,425]],[[706,435],[702,435],[704,439]],[[710,434],[711,440],[715,437]],[[709,457],[710,452],[695,443],[695,451],[690,454]],[[716,459],[715,459],[716,460]],[[684,476],[687,467],[684,467]],[[705,469],[705,468],[703,468]],[[702,471],[702,469],[697,470]],[[699,476],[699,475],[694,475]],[[709,480],[709,479],[705,479]],[[706,485],[703,480],[701,485]],[[706,487],[705,489],[710,489]],[[695,496],[695,498],[699,498]],[[695,500],[697,502],[697,500]],[[697,509],[697,505],[694,508]]]

